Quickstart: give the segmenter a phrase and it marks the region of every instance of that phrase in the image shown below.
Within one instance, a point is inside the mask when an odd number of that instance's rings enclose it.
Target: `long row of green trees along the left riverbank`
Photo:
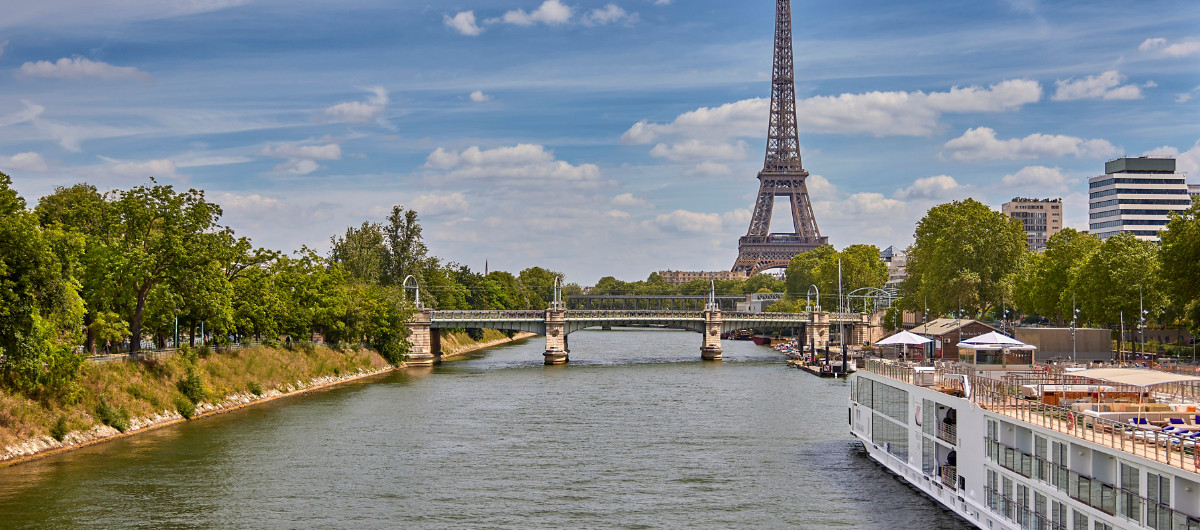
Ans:
[[[194,345],[281,337],[366,343],[390,362],[407,351],[413,276],[436,308],[544,308],[563,275],[540,267],[480,275],[427,253],[418,215],[332,237],[329,257],[256,248],[221,225],[203,191],[58,188],[30,210],[0,173],[0,385],[55,393],[86,354],[143,341]],[[479,330],[468,330],[473,336]]]

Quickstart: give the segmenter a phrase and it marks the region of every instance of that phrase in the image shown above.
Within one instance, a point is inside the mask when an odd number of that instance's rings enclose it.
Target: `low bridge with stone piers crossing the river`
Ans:
[[[442,337],[433,330],[454,327],[486,327],[502,331],[527,331],[546,337],[546,365],[568,361],[566,336],[588,327],[655,326],[696,331],[702,335],[701,359],[721,359],[721,335],[736,330],[797,329],[802,343],[824,348],[829,326],[848,324],[865,329],[863,313],[739,313],[721,311],[715,305],[703,311],[688,309],[568,309],[560,302],[546,311],[434,311],[414,313],[408,327],[412,351],[409,365],[433,365],[442,357]],[[812,337],[805,338],[812,326]],[[811,341],[810,341],[811,339]],[[850,341],[847,341],[850,342]]]

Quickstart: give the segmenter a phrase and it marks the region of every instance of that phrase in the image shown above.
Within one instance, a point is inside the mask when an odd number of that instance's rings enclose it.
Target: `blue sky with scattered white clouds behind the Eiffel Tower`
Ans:
[[[416,209],[432,253],[568,281],[722,270],[749,225],[774,2],[47,0],[0,17],[0,170],[198,187],[324,252]],[[1121,155],[1200,183],[1195,1],[792,4],[823,235],[907,246],[935,204],[1061,197]],[[786,211],[773,224],[790,227]]]

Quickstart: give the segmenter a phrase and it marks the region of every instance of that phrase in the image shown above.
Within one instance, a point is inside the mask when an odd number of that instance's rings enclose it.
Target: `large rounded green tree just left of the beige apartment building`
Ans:
[[[1021,222],[974,200],[934,206],[917,223],[908,247],[904,307],[929,301],[935,314],[962,308],[980,315],[1010,299],[1012,277],[1028,255]]]

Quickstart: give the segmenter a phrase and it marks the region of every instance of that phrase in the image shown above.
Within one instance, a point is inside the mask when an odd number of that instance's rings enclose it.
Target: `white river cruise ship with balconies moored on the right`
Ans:
[[[1200,529],[1196,403],[1200,378],[1162,371],[868,360],[850,426],[978,528]]]

